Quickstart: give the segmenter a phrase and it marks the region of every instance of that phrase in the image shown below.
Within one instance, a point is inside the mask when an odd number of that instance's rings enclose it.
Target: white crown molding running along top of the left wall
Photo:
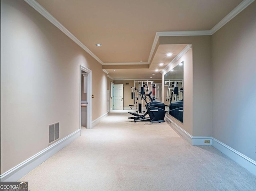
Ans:
[[[37,12],[39,12],[42,16],[44,16],[48,21],[50,21],[54,26],[60,29],[64,34],[66,34],[70,39],[72,39],[76,44],[78,44],[82,49],[84,49],[87,53],[89,53],[94,59],[96,59],[99,63],[103,64],[103,62],[96,56],[92,51],[90,51],[81,41],[79,41],[71,32],[69,32],[54,16],[52,16],[45,8],[43,8],[38,2],[35,0],[24,0],[28,3],[32,8],[34,8]]]

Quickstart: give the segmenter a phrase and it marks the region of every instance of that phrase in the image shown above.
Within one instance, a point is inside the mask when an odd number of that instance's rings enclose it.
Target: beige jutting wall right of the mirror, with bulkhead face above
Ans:
[[[192,136],[212,136],[211,36],[160,37],[160,44],[192,44],[193,64],[184,65],[184,110],[192,104],[184,113],[184,129]]]

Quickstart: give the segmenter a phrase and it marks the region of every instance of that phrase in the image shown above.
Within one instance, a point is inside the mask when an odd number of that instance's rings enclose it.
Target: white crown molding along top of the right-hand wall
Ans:
[[[243,0],[236,8],[234,8],[229,14],[227,14],[218,24],[216,24],[211,30],[211,35],[217,32],[225,24],[227,24],[232,18],[237,16],[242,10],[248,7],[254,0]]]

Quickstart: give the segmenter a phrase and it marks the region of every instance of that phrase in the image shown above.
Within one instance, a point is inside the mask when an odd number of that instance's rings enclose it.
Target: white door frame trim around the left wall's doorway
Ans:
[[[79,129],[80,129],[80,136],[81,136],[81,94],[82,94],[82,71],[86,72],[87,77],[87,93],[86,93],[86,128],[92,128],[92,71],[82,65],[80,65],[80,91],[79,91]]]

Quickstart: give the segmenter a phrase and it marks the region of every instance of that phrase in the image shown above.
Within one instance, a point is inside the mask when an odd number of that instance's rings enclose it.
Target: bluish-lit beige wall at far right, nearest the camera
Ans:
[[[256,161],[256,2],[212,35],[213,136]]]

